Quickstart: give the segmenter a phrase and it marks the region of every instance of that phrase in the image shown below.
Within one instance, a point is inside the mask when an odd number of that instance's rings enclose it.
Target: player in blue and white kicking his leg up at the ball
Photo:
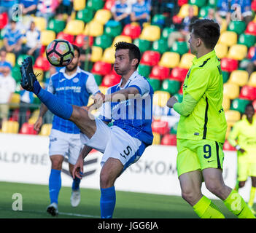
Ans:
[[[40,100],[63,119],[69,119],[79,127],[83,147],[73,178],[82,178],[83,160],[91,149],[103,153],[101,159],[101,218],[112,218],[115,209],[115,180],[131,164],[136,162],[147,146],[152,144],[152,95],[147,79],[139,75],[141,53],[134,44],[115,44],[114,68],[122,76],[119,84],[109,87],[106,95],[95,95],[94,106],[102,106],[100,117],[94,117],[79,106],[64,103],[50,92],[43,90],[33,72],[30,58],[20,68],[24,89],[34,92]],[[108,123],[114,120],[111,127]]]

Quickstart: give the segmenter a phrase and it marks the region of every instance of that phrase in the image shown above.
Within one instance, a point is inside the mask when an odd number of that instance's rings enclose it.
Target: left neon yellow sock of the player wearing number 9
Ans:
[[[193,209],[199,218],[225,218],[217,206],[205,196],[193,206]]]

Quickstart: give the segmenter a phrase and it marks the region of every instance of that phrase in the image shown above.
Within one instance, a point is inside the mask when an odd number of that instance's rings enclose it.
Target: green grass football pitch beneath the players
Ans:
[[[15,196],[14,194],[19,194]],[[21,195],[20,195],[21,194]],[[77,208],[70,204],[70,187],[62,187],[58,217],[46,212],[49,205],[48,186],[28,183],[0,182],[0,218],[100,218],[100,191],[81,189]],[[18,205],[18,200],[21,204]],[[220,200],[214,203],[226,218],[233,218]],[[22,210],[13,207],[22,206]],[[117,191],[113,218],[198,218],[182,197]]]

